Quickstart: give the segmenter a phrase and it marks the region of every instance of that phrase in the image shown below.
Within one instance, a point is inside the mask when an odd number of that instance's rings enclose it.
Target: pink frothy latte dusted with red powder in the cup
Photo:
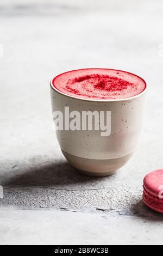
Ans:
[[[61,93],[89,100],[120,100],[143,92],[139,76],[113,69],[79,69],[55,77],[53,87]]]

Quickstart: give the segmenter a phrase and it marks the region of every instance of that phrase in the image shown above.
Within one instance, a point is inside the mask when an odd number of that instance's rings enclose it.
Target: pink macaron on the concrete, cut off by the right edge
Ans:
[[[163,169],[148,173],[143,180],[143,202],[163,214]]]

